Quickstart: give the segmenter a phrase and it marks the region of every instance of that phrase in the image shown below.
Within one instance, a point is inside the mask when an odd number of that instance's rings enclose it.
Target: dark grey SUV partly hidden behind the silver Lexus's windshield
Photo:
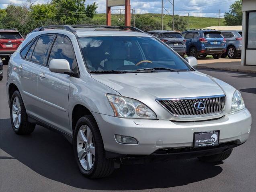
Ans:
[[[153,36],[159,38],[161,41],[165,42],[176,51],[180,56],[184,58],[186,54],[186,40],[182,37],[179,32],[175,31],[149,31],[148,34],[152,34]]]

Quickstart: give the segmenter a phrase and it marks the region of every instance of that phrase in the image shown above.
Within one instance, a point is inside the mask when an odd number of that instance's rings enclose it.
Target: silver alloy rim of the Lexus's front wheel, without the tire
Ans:
[[[79,128],[76,141],[80,164],[85,170],[91,170],[95,160],[95,146],[88,126],[82,125]]]

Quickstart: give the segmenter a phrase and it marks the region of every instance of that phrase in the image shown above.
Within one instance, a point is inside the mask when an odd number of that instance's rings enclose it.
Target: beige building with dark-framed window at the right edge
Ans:
[[[256,0],[243,0],[243,40],[241,65],[256,66]]]

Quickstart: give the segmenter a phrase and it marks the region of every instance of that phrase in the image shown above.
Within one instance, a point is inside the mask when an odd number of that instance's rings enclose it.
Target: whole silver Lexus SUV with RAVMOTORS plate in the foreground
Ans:
[[[248,139],[251,114],[238,90],[196,64],[132,27],[38,28],[8,64],[12,129],[57,130],[88,178],[121,164],[225,160]]]

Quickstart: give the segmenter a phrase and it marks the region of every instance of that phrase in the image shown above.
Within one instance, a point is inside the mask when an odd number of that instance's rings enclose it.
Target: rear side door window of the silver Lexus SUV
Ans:
[[[52,38],[53,35],[41,36],[38,38],[31,61],[45,64],[46,54]]]

